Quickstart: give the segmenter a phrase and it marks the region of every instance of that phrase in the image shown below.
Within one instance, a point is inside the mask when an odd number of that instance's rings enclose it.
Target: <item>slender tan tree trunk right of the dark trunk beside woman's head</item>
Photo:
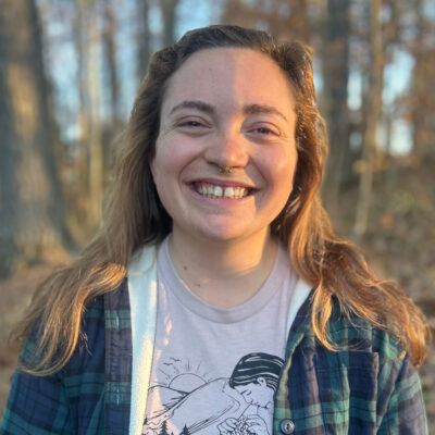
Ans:
[[[376,130],[382,114],[382,89],[384,72],[384,49],[381,34],[381,0],[371,0],[371,69],[370,89],[366,103],[366,124],[363,137],[362,162],[360,165],[359,199],[357,204],[353,235],[361,238],[368,227],[373,184],[373,164],[376,158]]]

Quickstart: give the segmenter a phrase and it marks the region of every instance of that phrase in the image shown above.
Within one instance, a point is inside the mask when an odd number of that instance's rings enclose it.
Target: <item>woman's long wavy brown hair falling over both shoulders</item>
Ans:
[[[299,42],[278,42],[264,32],[216,25],[188,32],[158,51],[140,86],[108,195],[104,220],[95,240],[72,265],[58,270],[35,293],[15,336],[36,328],[38,355],[26,371],[45,375],[71,358],[89,300],[120,286],[132,254],[160,243],[172,221],[161,204],[149,162],[160,128],[160,109],[169,78],[199,50],[239,47],[270,55],[284,71],[296,100],[298,166],[294,190],[272,233],[288,245],[296,272],[315,288],[312,324],[318,338],[334,349],[327,321],[335,295],[341,310],[391,333],[418,365],[425,351],[424,320],[413,302],[391,283],[377,279],[348,241],[332,231],[318,190],[327,151],[311,69],[311,50]],[[290,179],[288,181],[291,182]]]

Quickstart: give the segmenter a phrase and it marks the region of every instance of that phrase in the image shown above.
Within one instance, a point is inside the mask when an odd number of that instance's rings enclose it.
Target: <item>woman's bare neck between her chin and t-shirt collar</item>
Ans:
[[[169,251],[194,294],[207,303],[229,308],[261,288],[274,265],[277,243],[269,231],[249,239],[216,241],[192,239],[174,228]]]

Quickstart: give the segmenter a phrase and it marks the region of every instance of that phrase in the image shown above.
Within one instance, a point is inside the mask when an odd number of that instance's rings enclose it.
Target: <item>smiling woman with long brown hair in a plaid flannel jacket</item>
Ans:
[[[162,403],[254,352],[285,360],[269,433],[425,433],[422,315],[318,198],[326,139],[309,49],[189,32],[152,57],[127,133],[101,233],[17,331],[1,433],[147,433]]]

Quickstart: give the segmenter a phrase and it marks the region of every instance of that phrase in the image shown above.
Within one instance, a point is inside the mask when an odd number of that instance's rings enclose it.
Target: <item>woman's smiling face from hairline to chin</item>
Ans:
[[[202,50],[179,67],[151,161],[174,237],[268,236],[293,189],[294,105],[284,73],[258,51]],[[226,166],[231,173],[220,171]]]

